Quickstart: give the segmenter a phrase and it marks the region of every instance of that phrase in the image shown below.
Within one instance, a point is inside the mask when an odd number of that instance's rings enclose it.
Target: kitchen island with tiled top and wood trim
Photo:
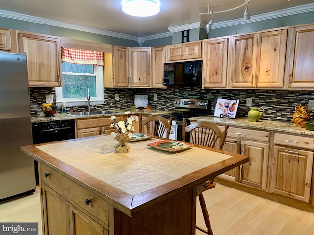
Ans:
[[[45,234],[194,235],[196,186],[248,162],[193,146],[171,153],[100,135],[21,147],[39,162]]]

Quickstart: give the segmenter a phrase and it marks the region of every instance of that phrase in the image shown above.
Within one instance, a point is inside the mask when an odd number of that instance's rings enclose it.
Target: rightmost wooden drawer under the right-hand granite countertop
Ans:
[[[314,138],[275,133],[275,144],[313,150]]]

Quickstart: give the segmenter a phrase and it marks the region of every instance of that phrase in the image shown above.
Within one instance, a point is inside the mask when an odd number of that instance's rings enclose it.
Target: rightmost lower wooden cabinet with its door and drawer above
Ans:
[[[271,191],[309,202],[314,139],[275,133]]]

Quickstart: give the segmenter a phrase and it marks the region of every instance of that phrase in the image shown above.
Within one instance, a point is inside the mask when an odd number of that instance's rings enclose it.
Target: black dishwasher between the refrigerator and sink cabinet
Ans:
[[[32,123],[33,144],[64,141],[75,138],[74,119]],[[38,163],[35,161],[36,184],[39,183]]]

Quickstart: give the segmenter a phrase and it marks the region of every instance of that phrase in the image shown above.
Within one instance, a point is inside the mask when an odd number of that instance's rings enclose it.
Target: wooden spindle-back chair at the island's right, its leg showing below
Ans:
[[[186,126],[186,120],[183,118],[182,140],[185,141],[185,135],[188,133],[190,137],[190,143],[210,148],[222,149],[226,141],[228,128],[229,125],[227,124],[225,125],[224,131],[222,131],[216,124],[205,121],[198,121],[189,126]],[[208,189],[215,188],[215,186],[216,184],[214,183],[214,178],[212,178],[203,184],[198,185],[196,188],[196,196],[198,196],[200,201],[200,206],[207,230],[199,227],[198,225],[196,225],[196,229],[208,235],[213,235],[213,232],[211,230],[209,214],[206,208],[203,192]]]

